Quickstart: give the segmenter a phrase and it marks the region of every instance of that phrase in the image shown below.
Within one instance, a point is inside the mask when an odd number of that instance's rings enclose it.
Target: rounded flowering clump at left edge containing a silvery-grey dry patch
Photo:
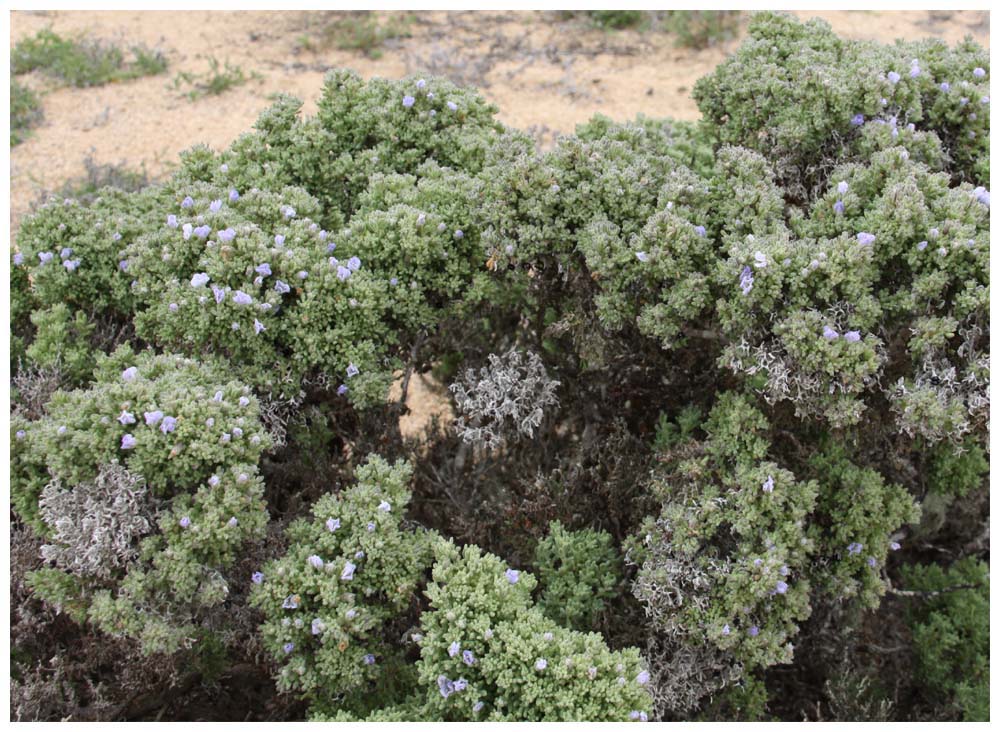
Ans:
[[[150,652],[185,643],[190,608],[225,599],[220,570],[267,521],[269,438],[249,393],[217,368],[123,347],[93,386],[15,422],[12,502],[59,567],[29,577],[36,592]]]

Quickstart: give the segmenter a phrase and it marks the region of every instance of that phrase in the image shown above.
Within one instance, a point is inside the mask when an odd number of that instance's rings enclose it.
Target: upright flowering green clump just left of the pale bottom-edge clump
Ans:
[[[250,601],[266,617],[278,686],[315,710],[363,708],[352,699],[405,675],[385,629],[413,602],[434,538],[403,520],[410,474],[404,462],[370,457],[357,484],[320,498],[312,519],[289,526],[288,552],[253,575]]]

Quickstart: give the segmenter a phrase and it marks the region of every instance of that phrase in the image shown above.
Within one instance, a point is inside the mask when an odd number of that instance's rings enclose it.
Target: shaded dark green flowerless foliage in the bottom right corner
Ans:
[[[990,568],[972,557],[904,567],[918,676],[967,722],[990,718]]]

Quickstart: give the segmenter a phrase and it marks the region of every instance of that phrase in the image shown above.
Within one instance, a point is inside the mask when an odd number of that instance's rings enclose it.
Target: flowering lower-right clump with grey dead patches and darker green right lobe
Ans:
[[[629,555],[636,597],[657,632],[686,645],[714,645],[745,669],[789,663],[814,588],[877,603],[892,533],[919,512],[832,448],[812,462],[817,479],[797,480],[768,459],[767,420],[745,397],[721,395],[704,429],[654,476],[662,509]]]

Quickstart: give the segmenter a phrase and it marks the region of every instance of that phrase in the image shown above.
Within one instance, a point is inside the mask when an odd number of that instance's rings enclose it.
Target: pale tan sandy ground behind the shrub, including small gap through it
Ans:
[[[989,15],[981,11],[797,11],[820,16],[849,38],[891,42],[928,36],[955,43],[972,35],[989,45]],[[398,14],[397,14],[398,15]],[[157,177],[195,143],[223,148],[249,129],[276,92],[294,94],[315,110],[328,69],[398,78],[446,75],[478,87],[509,125],[531,129],[543,142],[601,112],[614,119],[638,113],[696,119],[694,82],[710,72],[740,37],[694,51],[676,48],[664,33],[605,33],[554,12],[468,11],[409,14],[409,37],[388,41],[378,59],[357,51],[302,48],[316,38],[328,12],[19,11],[11,44],[51,27],[124,46],[162,51],[169,69],[157,77],[91,89],[55,88],[40,74],[23,80],[43,93],[44,121],[11,150],[11,225],[47,191],[99,164],[124,163]],[[385,19],[385,14],[382,14]],[[745,25],[745,22],[744,22]],[[742,32],[741,32],[742,36]],[[179,72],[203,74],[208,59],[228,61],[263,78],[220,96],[190,101],[172,89]],[[408,402],[440,410],[429,384],[415,379]],[[429,404],[434,402],[434,404]],[[407,432],[426,416],[404,418]]]

